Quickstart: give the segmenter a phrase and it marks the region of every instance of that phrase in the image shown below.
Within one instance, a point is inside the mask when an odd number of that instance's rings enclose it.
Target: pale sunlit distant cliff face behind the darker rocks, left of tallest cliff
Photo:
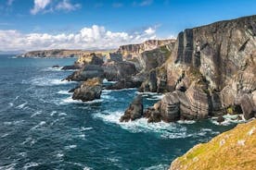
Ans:
[[[122,45],[117,53],[121,54],[123,59],[129,60],[139,56],[145,51],[150,51],[162,45],[174,43],[175,40],[148,40],[140,44]]]

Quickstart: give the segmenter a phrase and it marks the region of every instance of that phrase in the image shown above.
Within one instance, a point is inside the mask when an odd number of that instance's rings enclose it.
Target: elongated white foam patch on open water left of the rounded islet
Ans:
[[[48,79],[48,78],[36,78],[29,81],[35,86],[58,86],[75,83],[74,81],[62,80],[62,79]]]

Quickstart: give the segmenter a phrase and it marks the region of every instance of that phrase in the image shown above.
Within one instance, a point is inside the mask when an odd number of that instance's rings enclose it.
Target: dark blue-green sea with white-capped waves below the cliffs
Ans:
[[[71,100],[75,59],[0,55],[0,169],[167,169],[198,142],[232,128],[197,123],[119,123],[136,90],[103,91],[91,103]],[[160,99],[144,94],[144,103]],[[191,124],[192,123],[192,124]]]

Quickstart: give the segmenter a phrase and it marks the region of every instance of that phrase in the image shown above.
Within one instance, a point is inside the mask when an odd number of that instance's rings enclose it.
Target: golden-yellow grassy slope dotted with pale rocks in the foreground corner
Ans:
[[[175,159],[170,170],[256,169],[256,120],[198,144]]]

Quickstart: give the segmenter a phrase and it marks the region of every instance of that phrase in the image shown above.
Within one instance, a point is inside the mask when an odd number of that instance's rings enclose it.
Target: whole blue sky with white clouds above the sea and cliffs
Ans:
[[[114,49],[256,15],[256,0],[0,0],[0,51]]]

